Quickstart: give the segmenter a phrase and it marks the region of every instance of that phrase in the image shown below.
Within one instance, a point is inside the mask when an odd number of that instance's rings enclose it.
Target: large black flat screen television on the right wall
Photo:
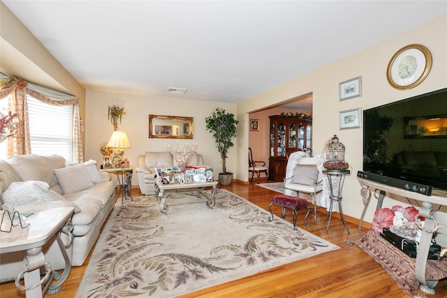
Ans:
[[[363,172],[447,190],[447,88],[364,110],[362,127]]]

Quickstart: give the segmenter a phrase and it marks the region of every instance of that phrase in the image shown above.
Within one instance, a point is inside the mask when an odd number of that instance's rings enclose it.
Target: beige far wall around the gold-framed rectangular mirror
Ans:
[[[122,124],[118,124],[120,131],[125,131],[130,149],[125,155],[131,165],[137,167],[138,155],[145,151],[166,151],[170,142],[177,139],[149,139],[149,114],[193,117],[193,142],[198,143],[198,152],[203,155],[207,165],[211,165],[214,173],[221,172],[221,158],[212,138],[212,134],[205,128],[205,118],[210,116],[215,107],[222,107],[226,112],[235,114],[236,105],[228,103],[205,102],[199,100],[183,100],[182,96],[167,96],[166,98],[151,98],[131,94],[117,94],[105,91],[87,90],[86,114],[86,159],[101,161],[99,147],[102,142],[108,142],[113,132],[113,126],[107,119],[109,105],[124,107],[126,114],[122,117]],[[187,142],[191,140],[178,140]],[[236,170],[235,148],[228,152],[227,170]],[[133,184],[138,184],[136,174]]]

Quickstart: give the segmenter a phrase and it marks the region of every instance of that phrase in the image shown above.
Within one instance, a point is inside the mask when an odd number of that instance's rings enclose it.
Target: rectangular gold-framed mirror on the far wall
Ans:
[[[193,117],[149,114],[149,138],[192,139]]]

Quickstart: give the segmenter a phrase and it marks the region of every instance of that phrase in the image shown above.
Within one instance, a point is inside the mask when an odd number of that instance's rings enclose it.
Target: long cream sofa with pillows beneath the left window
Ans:
[[[10,156],[4,161],[0,160],[2,204],[5,202],[13,204],[20,212],[62,206],[75,207],[75,214],[71,218],[73,243],[66,248],[73,266],[84,263],[115,204],[115,179],[111,179],[108,173],[98,172],[94,163],[89,161],[80,165],[68,165],[61,156],[34,154]],[[42,184],[41,181],[45,183]],[[37,188],[38,191],[28,192],[30,195],[17,195],[15,198],[14,193],[20,188],[37,184],[47,185],[47,188],[43,191]],[[39,196],[40,192],[42,193]],[[68,238],[65,240],[69,242]],[[45,261],[50,262],[52,269],[64,269],[64,258],[55,237],[43,247],[43,253]],[[1,255],[0,281],[15,278],[17,273],[22,271],[24,254],[17,252]]]

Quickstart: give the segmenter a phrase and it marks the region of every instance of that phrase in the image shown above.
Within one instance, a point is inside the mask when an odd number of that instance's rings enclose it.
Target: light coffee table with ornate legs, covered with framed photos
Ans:
[[[155,195],[160,203],[160,211],[163,213],[168,213],[168,204],[166,204],[166,191],[180,191],[188,190],[191,188],[197,188],[196,197],[201,198],[202,195],[207,198],[207,207],[212,209],[216,204],[216,193],[217,193],[217,181],[212,182],[193,182],[189,184],[163,184],[160,179],[155,179]],[[212,187],[211,198],[203,193],[206,187]]]

